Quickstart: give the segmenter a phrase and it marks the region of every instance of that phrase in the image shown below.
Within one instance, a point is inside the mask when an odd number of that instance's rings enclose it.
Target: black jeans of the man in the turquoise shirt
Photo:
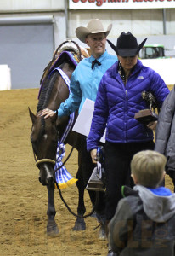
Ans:
[[[87,137],[82,135],[81,138],[81,161],[82,161],[82,177],[84,181],[84,185],[88,184],[88,180],[91,177],[93,169],[96,167],[93,164],[91,155],[87,151]],[[96,200],[96,192],[95,191],[88,191],[92,204],[95,204]],[[105,193],[99,192],[99,202],[95,210],[99,215],[104,215],[105,211]]]

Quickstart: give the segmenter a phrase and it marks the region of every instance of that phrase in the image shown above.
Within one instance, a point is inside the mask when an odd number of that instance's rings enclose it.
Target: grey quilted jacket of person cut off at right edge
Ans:
[[[155,151],[167,156],[167,171],[175,171],[175,87],[167,96],[156,127]]]

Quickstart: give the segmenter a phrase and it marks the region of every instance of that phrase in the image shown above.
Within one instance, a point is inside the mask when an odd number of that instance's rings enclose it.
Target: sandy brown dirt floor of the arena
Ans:
[[[46,187],[38,181],[38,170],[31,154],[31,119],[37,109],[38,89],[0,91],[0,256],[57,255],[90,256],[107,254],[107,241],[99,241],[98,223],[86,218],[87,230],[73,231],[76,218],[65,208],[55,190],[58,237],[47,237]],[[67,147],[67,153],[70,147]],[[77,152],[65,165],[73,177],[77,170]],[[172,189],[171,180],[166,178]],[[63,190],[65,201],[76,212],[76,184]],[[85,193],[87,212],[91,211]]]

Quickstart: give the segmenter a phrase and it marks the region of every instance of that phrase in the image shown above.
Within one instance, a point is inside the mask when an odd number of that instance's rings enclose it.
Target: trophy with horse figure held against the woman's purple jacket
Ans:
[[[140,110],[138,113],[135,113],[134,119],[137,119],[140,123],[144,125],[148,125],[152,121],[156,121],[158,119],[158,115],[155,113],[155,108],[157,108],[157,102],[155,100],[155,96],[152,95],[150,91],[143,91],[142,98],[149,108]]]

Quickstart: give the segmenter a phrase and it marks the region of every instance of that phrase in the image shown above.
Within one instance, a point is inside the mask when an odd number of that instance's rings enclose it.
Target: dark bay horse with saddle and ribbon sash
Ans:
[[[58,226],[54,220],[56,214],[54,207],[54,165],[57,143],[65,131],[69,117],[58,119],[56,115],[56,117],[44,119],[40,116],[40,113],[44,108],[55,111],[59,108],[61,102],[65,102],[65,99],[69,96],[69,88],[58,71],[61,69],[65,73],[65,78],[71,79],[71,73],[76,68],[77,62],[81,61],[82,55],[83,57],[88,57],[88,51],[86,49],[80,49],[75,42],[66,41],[61,44],[54,52],[52,61],[48,63],[48,67],[45,68],[42,75],[37,114],[32,113],[29,108],[32,121],[31,145],[37,161],[36,165],[39,168],[39,181],[42,185],[47,186],[48,189],[48,236],[55,236],[59,233]],[[64,143],[68,143],[78,150],[78,171],[76,174],[78,181],[76,182],[76,186],[79,198],[77,213],[82,216],[86,212],[86,208],[83,199],[85,185],[82,181],[81,174],[80,135],[74,131],[70,131]],[[74,230],[85,229],[86,224],[84,219],[76,218]]]

